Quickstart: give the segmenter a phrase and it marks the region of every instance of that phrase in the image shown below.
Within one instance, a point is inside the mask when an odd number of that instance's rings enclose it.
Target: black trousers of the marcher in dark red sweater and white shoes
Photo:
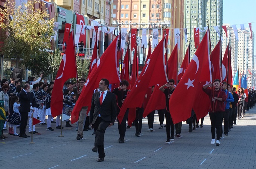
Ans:
[[[216,128],[216,140],[219,140],[221,136],[221,125],[223,121],[223,112],[210,112],[210,121],[211,121],[211,132],[212,139],[215,139],[215,128]]]

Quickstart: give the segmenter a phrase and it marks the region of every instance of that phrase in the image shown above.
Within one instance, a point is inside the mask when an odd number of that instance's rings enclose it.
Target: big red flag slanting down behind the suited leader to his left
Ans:
[[[97,66],[93,68],[90,75],[84,84],[84,89],[76,101],[76,105],[72,111],[71,123],[78,121],[79,112],[83,106],[88,106],[88,112],[91,108],[91,97],[94,89],[98,87],[99,81],[102,78],[107,78],[110,84],[120,82],[119,73],[117,72],[117,42],[120,36],[108,46],[107,50],[102,54],[97,62]],[[62,88],[61,88],[62,89]]]

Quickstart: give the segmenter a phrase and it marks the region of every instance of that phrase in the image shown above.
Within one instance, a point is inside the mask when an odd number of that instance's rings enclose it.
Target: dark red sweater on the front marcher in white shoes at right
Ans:
[[[212,100],[213,97],[222,98],[222,101],[215,100],[215,102],[211,102],[210,112],[213,112],[213,106],[214,106],[214,112],[224,112],[225,111],[225,105],[224,101],[226,101],[227,96],[224,91],[219,89],[218,91],[214,90],[214,96],[212,97],[212,89],[204,89],[203,91],[209,96],[210,100]]]

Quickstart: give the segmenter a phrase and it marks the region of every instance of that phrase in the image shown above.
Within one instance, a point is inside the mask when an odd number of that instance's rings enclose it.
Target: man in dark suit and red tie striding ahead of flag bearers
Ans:
[[[98,162],[104,161],[104,134],[107,127],[111,127],[116,120],[116,95],[108,91],[109,81],[101,79],[99,90],[93,94],[91,100],[90,124],[96,129],[94,152],[99,151]]]

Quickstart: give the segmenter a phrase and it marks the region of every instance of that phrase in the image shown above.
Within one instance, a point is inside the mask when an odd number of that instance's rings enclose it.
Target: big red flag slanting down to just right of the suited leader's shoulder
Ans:
[[[163,38],[157,45],[148,61],[146,62],[142,73],[127,95],[118,115],[119,121],[122,121],[126,109],[131,107],[142,107],[146,91],[149,86],[162,84],[168,81],[165,71],[165,43],[166,38]]]

